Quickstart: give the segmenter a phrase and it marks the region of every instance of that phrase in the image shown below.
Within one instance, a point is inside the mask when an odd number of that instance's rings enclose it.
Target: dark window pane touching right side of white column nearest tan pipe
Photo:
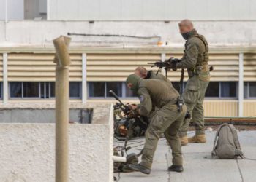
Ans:
[[[105,82],[89,82],[89,97],[105,97]]]

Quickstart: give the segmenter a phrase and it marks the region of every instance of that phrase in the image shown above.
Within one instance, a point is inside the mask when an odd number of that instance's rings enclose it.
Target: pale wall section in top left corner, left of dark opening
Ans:
[[[5,1],[7,1],[8,20],[23,20],[24,0],[0,0],[0,20],[5,19]]]

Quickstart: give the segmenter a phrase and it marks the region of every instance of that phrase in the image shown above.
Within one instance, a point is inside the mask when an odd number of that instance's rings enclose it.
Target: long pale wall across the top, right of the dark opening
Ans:
[[[49,20],[255,20],[256,0],[50,0]]]

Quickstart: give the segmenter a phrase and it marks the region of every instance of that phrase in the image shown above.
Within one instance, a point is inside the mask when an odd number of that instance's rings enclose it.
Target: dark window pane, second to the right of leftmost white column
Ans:
[[[39,82],[23,82],[24,98],[39,98]]]

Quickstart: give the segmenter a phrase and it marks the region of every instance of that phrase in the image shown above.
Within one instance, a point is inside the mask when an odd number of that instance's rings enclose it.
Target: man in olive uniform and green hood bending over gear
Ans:
[[[181,172],[182,156],[181,141],[178,137],[178,130],[181,127],[184,116],[187,112],[186,106],[178,111],[178,92],[173,90],[165,81],[159,79],[141,79],[135,74],[127,77],[127,87],[138,93],[140,104],[131,106],[135,113],[148,116],[150,124],[146,131],[146,143],[143,148],[143,156],[139,165],[129,165],[132,170],[149,174],[153,162],[154,152],[162,133],[170,143],[173,154],[173,165],[168,168],[170,171]],[[158,110],[155,111],[154,108]]]

